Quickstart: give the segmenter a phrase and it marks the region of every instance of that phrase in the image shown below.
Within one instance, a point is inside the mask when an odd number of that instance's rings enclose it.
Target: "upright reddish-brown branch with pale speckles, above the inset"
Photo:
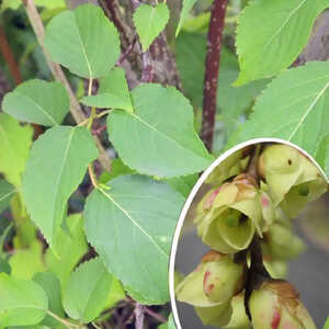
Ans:
[[[206,55],[201,138],[212,150],[217,103],[217,83],[223,29],[228,0],[214,0]]]

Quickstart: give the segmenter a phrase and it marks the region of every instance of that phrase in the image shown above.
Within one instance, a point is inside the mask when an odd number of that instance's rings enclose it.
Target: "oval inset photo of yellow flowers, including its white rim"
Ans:
[[[253,139],[220,156],[193,188],[173,238],[170,294],[177,327],[324,325],[327,192],[321,168],[285,140]],[[320,232],[307,223],[317,223]]]

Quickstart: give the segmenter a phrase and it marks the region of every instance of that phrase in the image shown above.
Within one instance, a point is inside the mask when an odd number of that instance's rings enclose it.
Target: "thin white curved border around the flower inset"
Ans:
[[[172,245],[171,245],[171,251],[170,251],[170,262],[169,262],[169,293],[170,293],[170,303],[171,303],[171,309],[172,309],[172,316],[174,324],[177,326],[177,329],[182,329],[180,318],[178,315],[178,309],[177,309],[177,303],[175,303],[175,296],[174,296],[174,261],[175,261],[175,254],[177,254],[177,249],[178,249],[178,243],[179,243],[179,238],[180,238],[180,232],[184,224],[185,216],[188,214],[188,211],[191,206],[191,203],[194,200],[195,194],[197,193],[198,189],[201,185],[204,183],[204,181],[207,179],[207,177],[211,174],[211,172],[222,162],[224,161],[227,157],[232,155],[234,152],[238,151],[241,148],[245,148],[250,145],[256,145],[256,144],[261,144],[261,143],[276,143],[276,144],[285,144],[288,146],[292,146],[296,149],[298,149],[302,154],[304,154],[306,157],[308,157],[315,166],[319,169],[319,171],[322,173],[322,175],[326,178],[328,181],[328,178],[326,177],[322,168],[317,163],[317,161],[308,155],[304,149],[298,147],[297,145],[280,139],[280,138],[254,138],[254,139],[249,139],[247,141],[240,143],[237,146],[230,148],[229,150],[225,151],[222,156],[219,156],[200,177],[197,180],[196,184],[193,186],[189,197],[186,198],[186,202],[184,204],[184,207],[181,212],[181,215],[179,217],[175,230],[174,230],[174,236],[172,239]]]

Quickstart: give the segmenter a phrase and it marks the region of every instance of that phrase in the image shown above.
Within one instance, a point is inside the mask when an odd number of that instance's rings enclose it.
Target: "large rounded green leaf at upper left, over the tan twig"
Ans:
[[[56,15],[46,29],[45,47],[54,61],[87,79],[105,76],[120,56],[114,25],[92,4]]]

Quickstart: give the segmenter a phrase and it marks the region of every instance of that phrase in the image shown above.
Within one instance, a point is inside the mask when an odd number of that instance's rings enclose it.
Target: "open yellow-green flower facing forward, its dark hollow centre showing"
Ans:
[[[197,207],[195,224],[202,241],[223,253],[246,249],[262,220],[258,191],[247,174],[208,192]]]

